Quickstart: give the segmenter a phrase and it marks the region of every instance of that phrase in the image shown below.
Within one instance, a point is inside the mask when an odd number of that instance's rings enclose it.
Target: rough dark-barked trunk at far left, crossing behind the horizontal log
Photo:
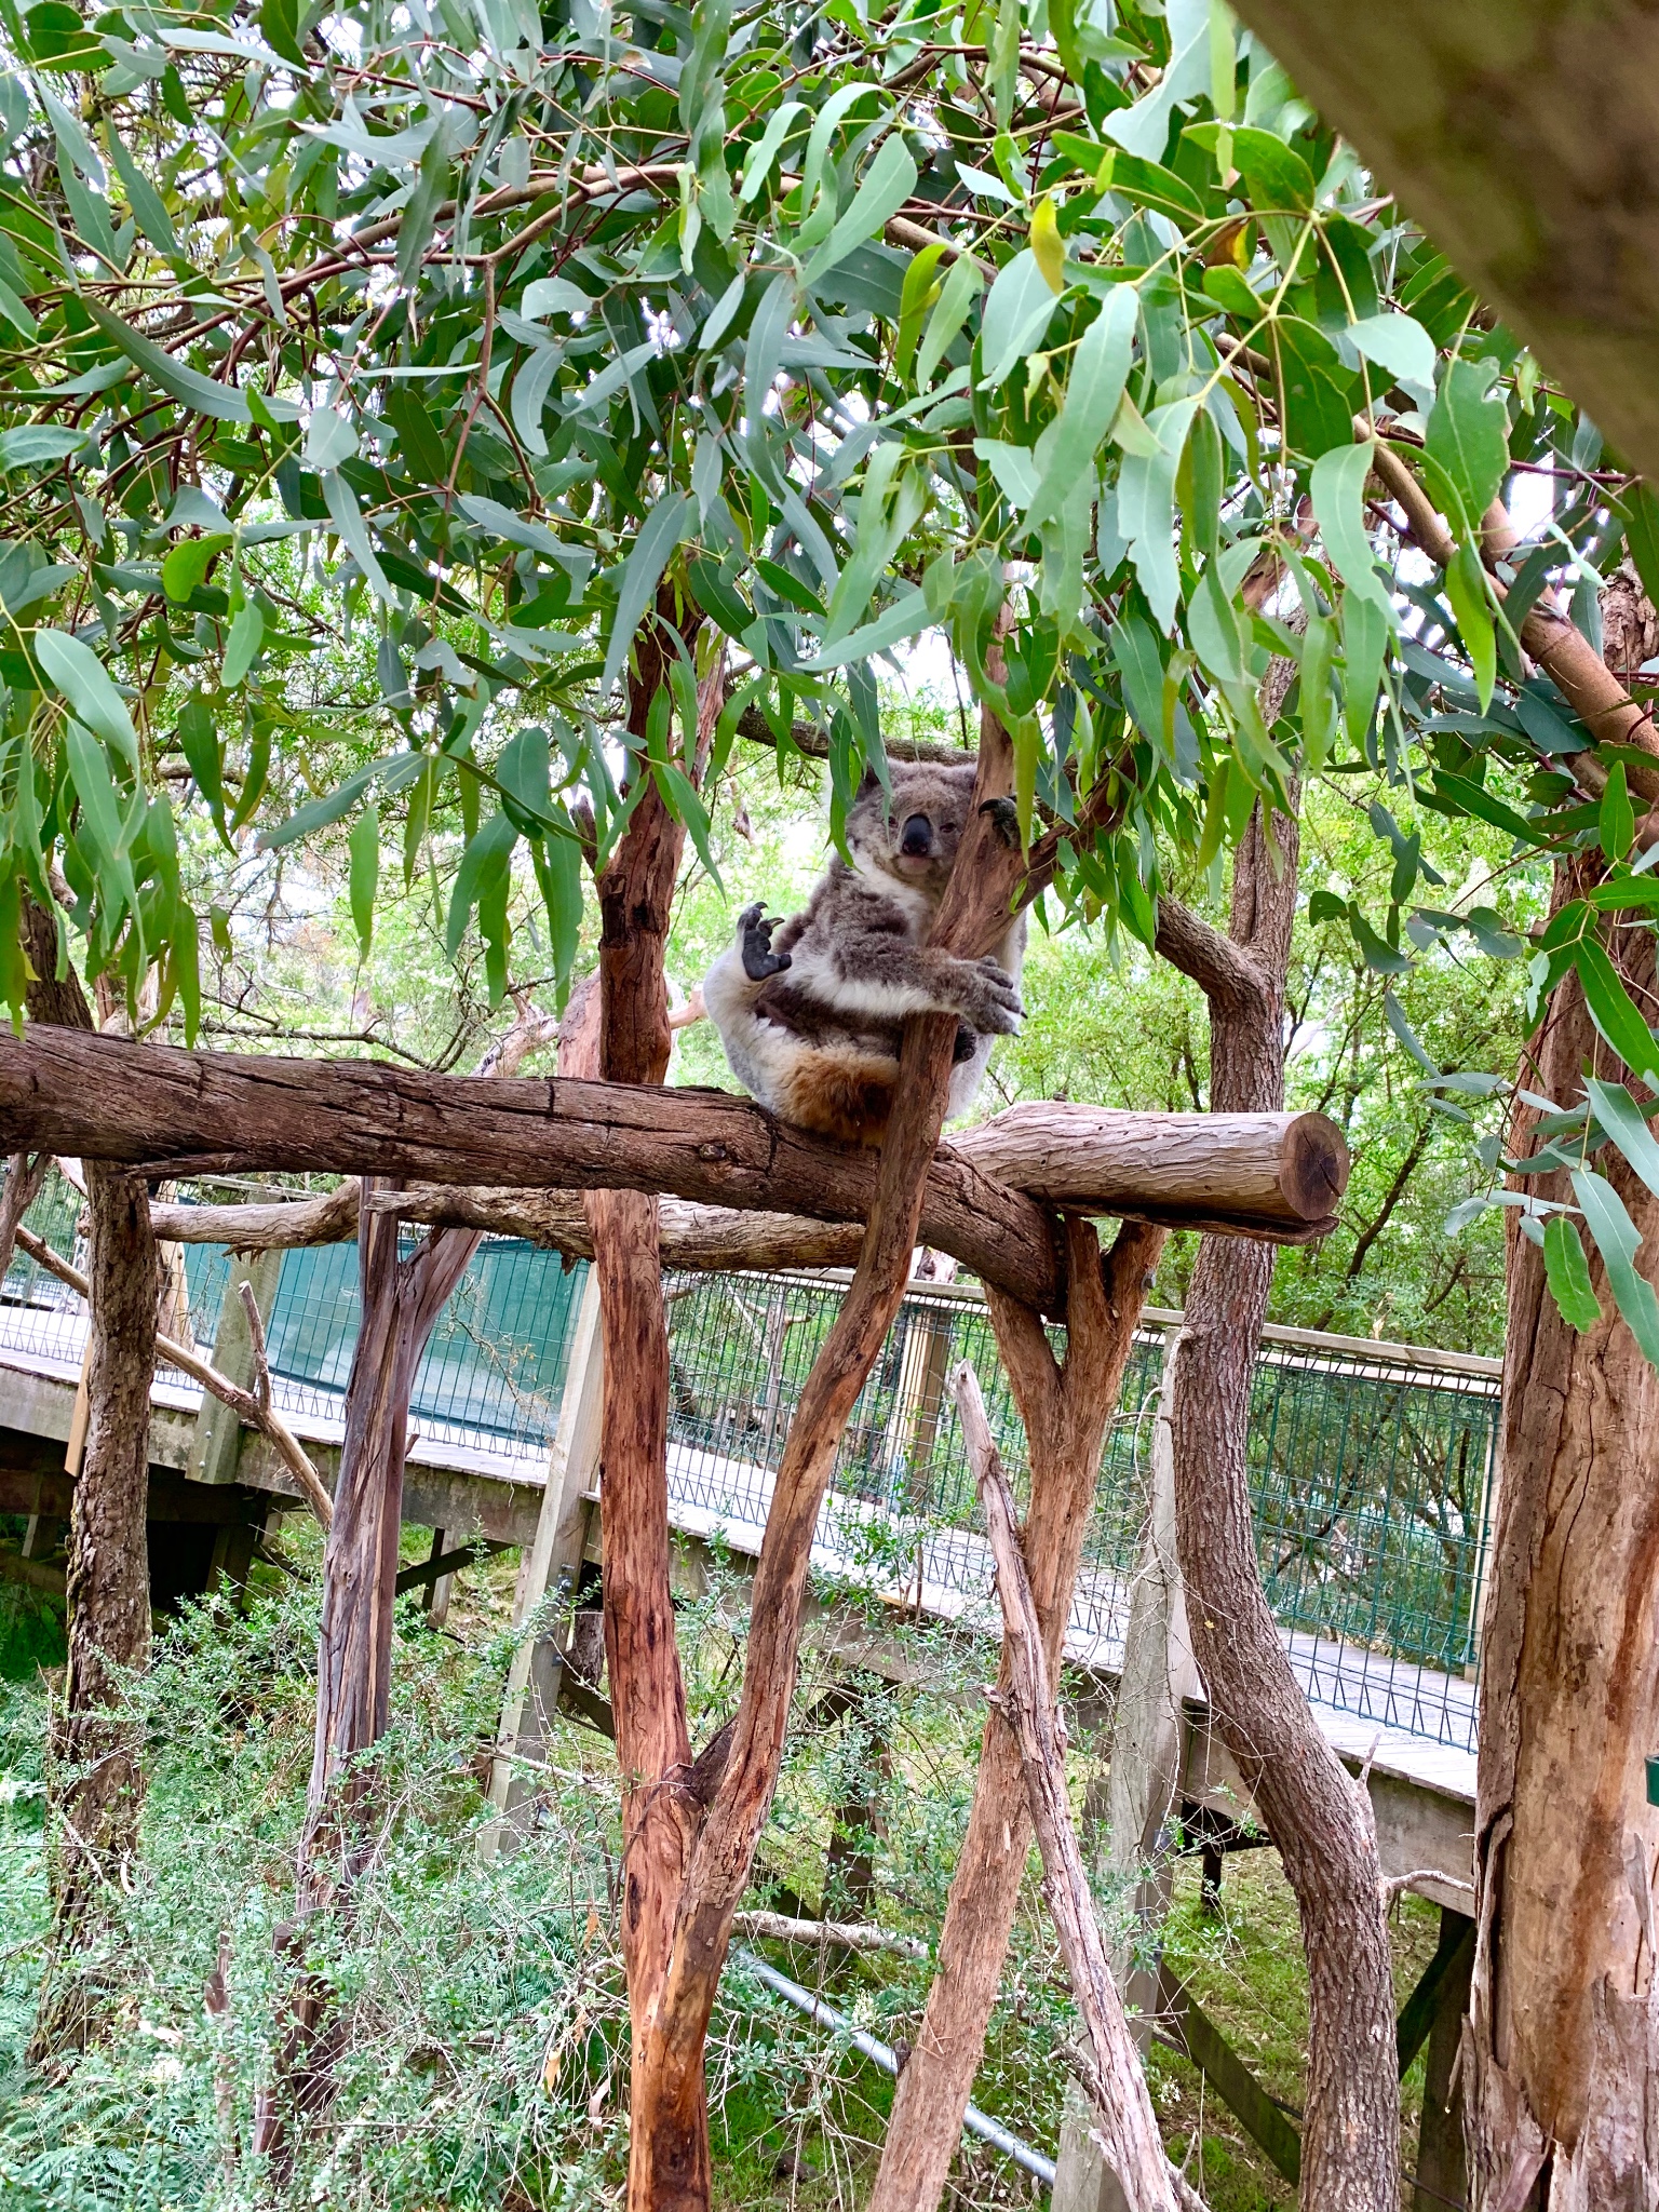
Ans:
[[[58,980],[53,918],[24,902],[22,931],[31,1022],[91,1029],[75,971]],[[102,2024],[108,1991],[97,1951],[144,1805],[142,1743],[122,1714],[122,1674],[150,1655],[146,1506],[161,1279],[137,1177],[88,1161],[86,1214],[86,1447],[69,1511],[69,1670],[49,1743],[51,1951],[33,2064],[82,2048]]]

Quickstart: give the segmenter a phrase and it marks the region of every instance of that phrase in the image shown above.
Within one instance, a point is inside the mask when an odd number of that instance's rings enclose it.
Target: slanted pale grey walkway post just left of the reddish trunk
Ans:
[[[604,1340],[599,1329],[599,1285],[593,1274],[582,1285],[571,1360],[564,1369],[560,1425],[546,1462],[542,1511],[535,1515],[535,1537],[518,1571],[513,1593],[513,1628],[546,1597],[549,1586],[575,1582],[586,1535],[586,1493],[599,1464],[599,1411],[604,1405]],[[504,1814],[511,1803],[513,1759],[531,1732],[540,1739],[538,1717],[526,1714],[535,1646],[524,1639],[513,1652],[502,1694],[502,1721],[495,1734],[495,1761],[489,1772],[489,1803],[495,1818],[478,1838],[478,1856],[493,1858],[504,1840]],[[557,1674],[555,1674],[557,1683]]]

